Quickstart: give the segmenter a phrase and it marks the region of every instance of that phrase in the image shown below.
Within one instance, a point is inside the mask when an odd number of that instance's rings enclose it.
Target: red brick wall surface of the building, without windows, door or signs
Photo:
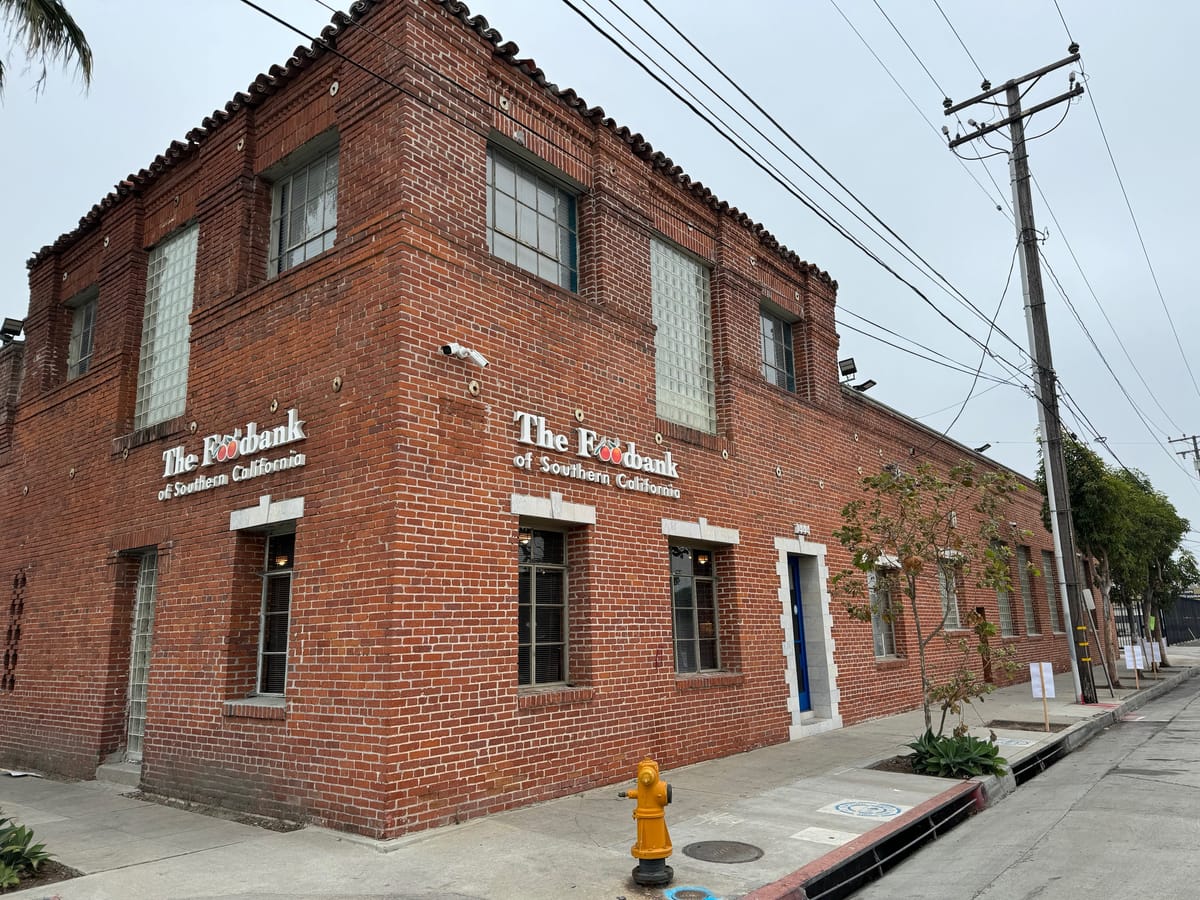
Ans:
[[[832,532],[863,474],[914,449],[940,467],[967,451],[839,385],[828,275],[506,59],[458,5],[368,6],[395,47],[352,29],[338,49],[404,92],[330,54],[296,58],[36,258],[7,463],[0,445],[0,571],[25,578],[0,758],[86,776],[120,750],[137,552],[151,547],[151,791],[390,836],[613,781],[643,755],[672,768],[788,739],[776,542],[804,523],[836,571]],[[269,280],[264,173],[330,128],[335,247]],[[577,292],[487,252],[490,140],[581,190]],[[192,221],[186,412],[133,433],[146,251]],[[712,266],[715,434],[655,415],[652,238]],[[96,355],[67,382],[62,304],[90,284]],[[764,299],[796,317],[794,392],[760,372]],[[449,341],[491,365],[444,356]],[[289,409],[304,467],[158,499],[164,451]],[[670,451],[679,498],[515,466],[518,412]],[[595,515],[569,536],[574,680],[518,690],[512,496],[552,493]],[[263,536],[229,529],[264,494],[305,503],[277,707],[241,702]],[[1039,508],[1030,490],[1009,512],[1036,553],[1050,546]],[[677,676],[664,520],[702,518],[738,534],[714,547],[725,671]],[[924,595],[936,607],[935,581]],[[960,599],[996,619],[995,594]],[[840,721],[919,703],[902,624],[901,658],[877,661],[870,625],[827,594],[808,602],[828,606]],[[1063,668],[1064,640],[1043,632],[1003,643]]]

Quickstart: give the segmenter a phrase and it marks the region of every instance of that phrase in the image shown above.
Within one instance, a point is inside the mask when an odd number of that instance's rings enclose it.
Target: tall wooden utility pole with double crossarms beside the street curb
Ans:
[[[1009,155],[1009,169],[1013,179],[1013,202],[1016,206],[1016,238],[1021,244],[1021,282],[1025,288],[1025,324],[1030,336],[1030,354],[1037,370],[1038,422],[1044,439],[1044,461],[1046,474],[1046,493],[1050,500],[1050,523],[1054,533],[1057,577],[1062,596],[1066,598],[1067,632],[1073,636],[1074,654],[1072,655],[1072,673],[1075,679],[1075,696],[1082,703],[1096,702],[1096,680],[1092,676],[1092,655],[1088,652],[1087,608],[1084,606],[1080,589],[1079,558],[1075,552],[1075,530],[1070,517],[1070,491],[1067,485],[1067,464],[1062,451],[1062,421],[1058,416],[1057,378],[1050,355],[1050,334],[1046,329],[1046,305],[1042,293],[1042,265],[1038,257],[1038,234],[1033,224],[1033,197],[1030,191],[1030,158],[1025,150],[1025,120],[1043,109],[1057,106],[1084,92],[1084,85],[1075,83],[1075,73],[1070,73],[1069,89],[1057,97],[1038,103],[1026,110],[1021,109],[1021,85],[1037,82],[1049,72],[1079,61],[1079,44],[1068,48],[1069,56],[1051,62],[1049,66],[1030,72],[1021,78],[1014,78],[1000,88],[992,89],[984,82],[983,94],[976,95],[964,103],[953,103],[947,97],[946,115],[954,115],[966,107],[988,102],[991,106],[1007,106],[1007,116],[989,125],[977,125],[970,134],[955,136],[950,142],[953,150],[959,144],[1008,127],[1013,150]],[[1032,85],[1031,85],[1032,86]],[[991,100],[1004,94],[1004,102]],[[949,130],[942,128],[949,137]]]

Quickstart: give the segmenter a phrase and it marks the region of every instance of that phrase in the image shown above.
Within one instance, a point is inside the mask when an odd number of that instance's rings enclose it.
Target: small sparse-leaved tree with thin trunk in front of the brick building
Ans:
[[[982,696],[991,688],[968,691],[970,696],[962,695],[962,685],[935,691],[928,648],[946,635],[949,607],[942,604],[940,614],[929,614],[929,606],[922,602],[920,588],[926,583],[923,576],[934,581],[973,575],[980,587],[1007,590],[1010,551],[1001,542],[1001,524],[1006,522],[1002,512],[1020,490],[1010,474],[980,474],[971,463],[953,467],[944,478],[928,463],[912,472],[887,466],[880,474],[864,478],[865,497],[841,510],[844,524],[834,536],[850,551],[852,568],[834,576],[834,589],[846,599],[852,616],[870,620],[881,611],[874,608],[868,580],[874,577],[899,588],[917,638],[926,731],[932,728],[931,703],[938,700],[944,704],[943,694],[970,702],[971,696]],[[974,530],[959,528],[960,515],[973,518]],[[898,613],[894,607],[888,611],[890,616]]]

